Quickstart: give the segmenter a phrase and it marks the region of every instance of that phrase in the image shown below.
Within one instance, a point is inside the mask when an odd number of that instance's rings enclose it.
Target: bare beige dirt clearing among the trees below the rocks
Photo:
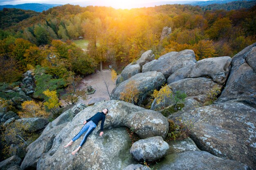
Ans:
[[[94,94],[89,94],[87,100],[80,100],[80,103],[83,103],[85,105],[88,105],[89,101],[95,98],[105,98],[105,100],[110,100],[110,97],[108,96],[106,85],[103,81],[103,78],[106,80],[108,84],[108,90],[111,94],[112,90],[115,87],[115,83],[111,80],[111,72],[110,70],[103,70],[101,72],[98,72],[96,74],[90,74],[88,76],[85,76],[82,80],[81,87],[86,88],[87,86],[92,86],[92,88],[95,89]],[[84,83],[87,83],[87,85],[84,85]]]

